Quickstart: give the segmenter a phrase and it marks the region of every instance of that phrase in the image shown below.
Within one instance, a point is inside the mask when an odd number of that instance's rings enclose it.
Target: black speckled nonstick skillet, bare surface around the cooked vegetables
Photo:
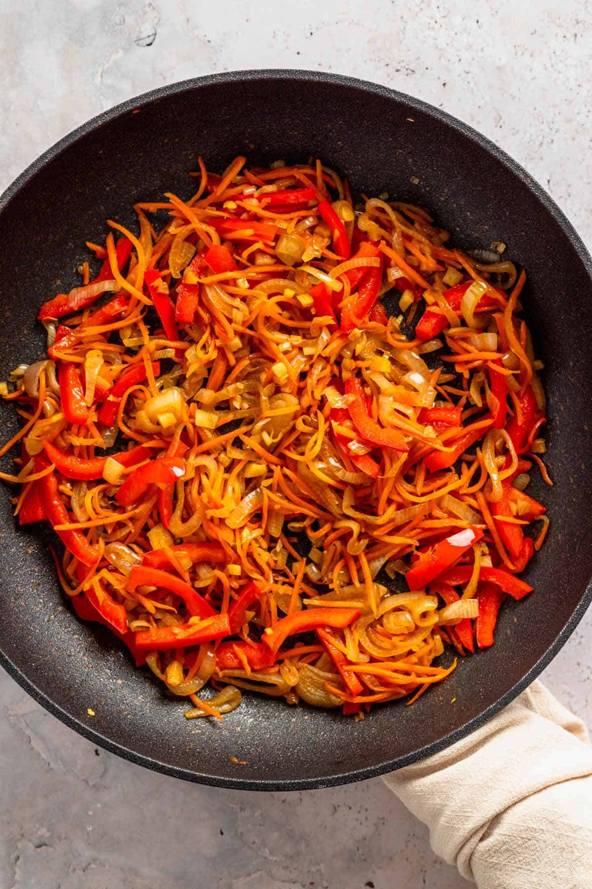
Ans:
[[[305,789],[358,781],[442,749],[482,725],[564,645],[592,597],[589,468],[592,264],[549,196],[499,148],[437,108],[382,86],[298,71],[202,77],[146,93],[84,124],[20,176],[0,203],[0,379],[43,353],[40,303],[77,283],[107,218],[165,190],[192,194],[198,154],[222,170],[238,154],[266,164],[320,156],[352,190],[431,208],[454,243],[509,245],[528,270],[524,302],[549,396],[549,506],[535,592],[504,605],[496,643],[462,661],[412,707],[355,723],[256,694],[222,724],[187,722],[185,705],[134,669],[107,630],[75,618],[55,578],[51,535],[21,531],[0,498],[0,649],[37,701],[107,749],[190,781]],[[0,413],[3,439],[16,430]],[[11,463],[4,458],[3,469]],[[452,702],[454,699],[454,703]],[[87,708],[95,716],[87,715]],[[241,760],[236,763],[231,757]]]

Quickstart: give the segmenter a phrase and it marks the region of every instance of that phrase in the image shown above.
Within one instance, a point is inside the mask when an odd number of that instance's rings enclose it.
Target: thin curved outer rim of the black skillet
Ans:
[[[114,120],[114,118],[116,118],[117,116],[125,114],[130,110],[134,110],[135,108],[145,107],[155,100],[164,99],[170,95],[175,95],[178,92],[198,89],[202,86],[234,83],[236,81],[250,81],[252,83],[259,80],[273,79],[283,79],[286,81],[296,80],[300,82],[308,82],[311,84],[320,82],[323,84],[335,84],[340,86],[352,87],[357,91],[373,93],[375,95],[382,96],[383,98],[386,98],[388,100],[403,102],[407,104],[409,108],[420,111],[425,115],[434,117],[439,122],[446,124],[457,132],[460,132],[463,136],[476,143],[479,148],[484,148],[485,152],[487,152],[489,155],[492,155],[499,163],[507,167],[510,172],[514,173],[521,180],[523,180],[526,188],[528,188],[533,193],[533,195],[541,202],[541,204],[543,204],[543,206],[549,211],[549,213],[555,220],[556,225],[561,228],[564,236],[566,236],[568,241],[572,244],[573,249],[578,254],[592,283],[592,258],[590,257],[590,254],[588,253],[588,250],[582,239],[576,232],[575,228],[573,228],[572,223],[567,219],[564,212],[557,206],[555,201],[549,196],[545,189],[541,187],[539,182],[537,180],[534,180],[533,177],[525,171],[524,167],[522,167],[521,164],[517,164],[517,162],[512,157],[510,157],[505,151],[499,148],[493,141],[489,140],[480,132],[473,129],[473,127],[471,127],[469,124],[465,124],[458,118],[447,114],[446,111],[443,111],[440,108],[436,108],[435,106],[430,105],[428,102],[415,99],[413,96],[409,96],[405,92],[392,90],[390,87],[383,86],[382,84],[374,84],[370,81],[361,80],[357,77],[332,74],[326,71],[310,71],[304,69],[288,68],[246,69],[239,71],[229,71],[221,74],[192,77],[186,80],[178,81],[174,84],[166,84],[165,86],[158,87],[157,89],[150,90],[148,92],[143,92],[136,97],[132,97],[129,100],[115,105],[113,108],[107,109],[107,111],[101,112],[97,116],[91,117],[90,120],[76,127],[75,130],[67,133],[66,136],[55,142],[51,146],[51,148],[48,148],[46,151],[43,152],[42,155],[37,157],[32,164],[29,164],[28,167],[26,167],[26,169],[21,172],[15,180],[13,180],[12,184],[9,185],[9,187],[5,189],[3,195],[0,196],[0,215],[4,211],[4,208],[7,206],[7,204],[9,204],[9,202],[11,202],[12,199],[18,195],[20,189],[23,188],[28,183],[28,181],[36,175],[37,172],[43,170],[43,167],[46,166],[51,160],[59,156],[59,154],[64,149],[73,145],[75,141],[77,141],[87,133],[96,130],[101,124],[106,124],[107,122]],[[88,741],[92,741],[92,743],[98,745],[99,747],[107,749],[109,752],[117,754],[118,756],[123,757],[124,759],[127,759],[136,765],[143,765],[154,772],[161,772],[163,774],[171,775],[172,777],[180,778],[185,781],[193,781],[196,783],[208,784],[213,787],[227,789],[267,791],[320,789],[325,787],[336,787],[341,784],[353,783],[355,781],[364,781],[368,778],[374,778],[379,775],[391,772],[395,769],[399,769],[405,765],[411,765],[412,763],[418,762],[425,757],[429,757],[434,753],[438,753],[439,750],[446,749],[447,747],[454,744],[456,741],[460,741],[463,737],[466,737],[470,733],[476,731],[480,726],[485,725],[485,723],[489,719],[491,719],[491,717],[493,717],[504,707],[507,707],[508,704],[511,703],[511,701],[514,701],[517,695],[523,692],[528,685],[531,685],[534,679],[536,679],[541,674],[542,670],[549,665],[550,661],[552,661],[553,658],[556,656],[556,653],[558,653],[561,648],[563,648],[568,638],[572,635],[573,630],[580,623],[591,602],[592,579],[588,581],[588,585],[583,590],[580,601],[574,608],[571,617],[564,624],[563,629],[561,629],[561,631],[558,633],[554,642],[549,645],[549,648],[541,655],[541,658],[539,658],[538,661],[534,662],[533,666],[527,670],[524,677],[522,677],[515,685],[513,685],[508,692],[501,695],[501,697],[497,701],[483,710],[480,714],[478,714],[477,717],[474,717],[468,722],[463,723],[458,728],[454,729],[453,732],[446,734],[446,736],[444,738],[441,738],[439,741],[434,741],[430,744],[427,744],[419,749],[414,750],[406,756],[396,757],[395,759],[387,760],[386,762],[379,765],[369,765],[359,769],[351,769],[351,771],[333,774],[326,778],[320,777],[306,779],[287,779],[282,781],[266,779],[251,780],[241,779],[238,777],[230,778],[213,774],[201,774],[193,772],[190,769],[183,768],[182,766],[169,765],[168,763],[159,761],[155,757],[147,757],[142,754],[138,754],[138,752],[124,746],[123,744],[111,741],[104,734],[95,731],[91,728],[90,725],[86,725],[85,723],[83,723],[80,719],[75,717],[66,709],[60,707],[59,704],[55,703],[55,701],[52,701],[47,694],[41,692],[39,688],[37,688],[35,682],[27,677],[22,672],[22,670],[20,670],[16,666],[16,664],[13,663],[11,658],[8,657],[1,649],[0,664],[4,667],[6,672],[20,685],[21,688],[23,688],[28,694],[30,694],[31,697],[35,701],[37,701],[37,703],[41,704],[44,709],[48,710],[52,714],[52,716],[58,717],[62,723],[68,726],[68,728],[74,729],[75,732],[83,735],[83,737],[86,738]]]

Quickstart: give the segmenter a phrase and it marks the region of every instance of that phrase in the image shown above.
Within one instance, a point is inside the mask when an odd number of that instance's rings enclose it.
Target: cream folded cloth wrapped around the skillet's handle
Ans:
[[[592,887],[592,748],[580,719],[540,682],[383,781],[479,889]]]

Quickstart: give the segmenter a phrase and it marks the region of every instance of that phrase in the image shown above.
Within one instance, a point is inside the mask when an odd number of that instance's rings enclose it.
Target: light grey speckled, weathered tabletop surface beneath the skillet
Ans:
[[[449,5],[0,0],[0,188],[139,92],[236,68],[317,68],[410,92],[477,127],[592,244],[592,4]],[[588,616],[544,674],[588,725],[591,628]],[[4,674],[0,684],[6,889],[469,885],[379,780],[291,795],[185,784],[95,749]]]

